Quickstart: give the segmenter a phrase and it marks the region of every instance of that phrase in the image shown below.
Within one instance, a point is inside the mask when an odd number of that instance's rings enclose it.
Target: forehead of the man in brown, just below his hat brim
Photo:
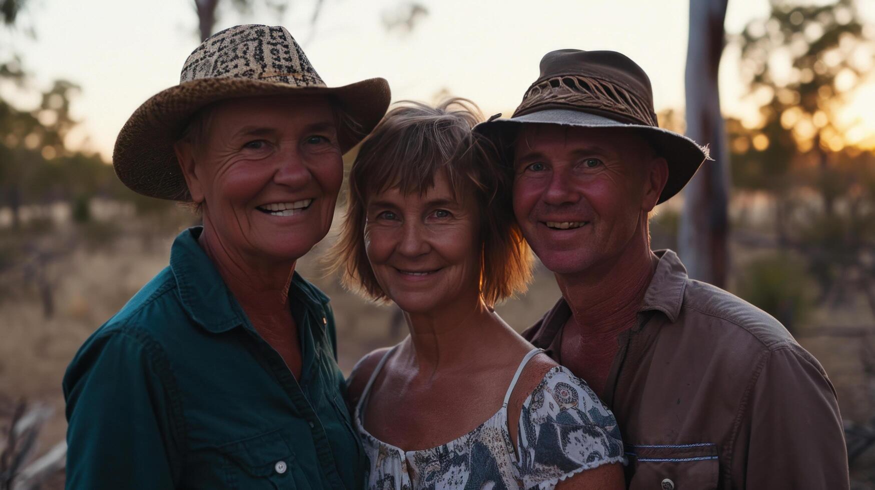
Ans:
[[[627,128],[582,128],[561,124],[521,124],[514,139],[514,157],[528,153],[570,153],[599,151],[626,155],[630,151],[649,152],[648,141],[636,130]]]

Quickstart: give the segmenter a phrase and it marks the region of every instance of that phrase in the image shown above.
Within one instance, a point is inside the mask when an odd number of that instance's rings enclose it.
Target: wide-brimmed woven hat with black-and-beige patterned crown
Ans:
[[[191,200],[173,151],[195,112],[226,99],[260,95],[329,95],[360,131],[338,128],[343,152],[367,136],[386,114],[391,98],[381,78],[328,88],[301,46],[284,27],[237,25],[195,49],[179,85],[144,102],[116,138],[113,166],[125,186],[166,200]]]

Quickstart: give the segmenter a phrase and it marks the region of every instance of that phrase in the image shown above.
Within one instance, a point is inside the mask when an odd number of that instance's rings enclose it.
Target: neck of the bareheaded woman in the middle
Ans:
[[[496,329],[509,328],[479,294],[465,295],[454,303],[428,312],[404,312],[411,362],[421,374],[433,376],[443,367],[476,359],[473,352],[482,352],[486,338],[494,339]]]

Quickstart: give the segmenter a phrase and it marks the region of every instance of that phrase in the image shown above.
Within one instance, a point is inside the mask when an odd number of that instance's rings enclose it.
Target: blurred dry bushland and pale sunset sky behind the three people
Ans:
[[[329,85],[383,76],[395,101],[460,95],[486,116],[513,111],[549,50],[635,59],[662,125],[714,158],[658,208],[654,248],[821,360],[854,486],[875,488],[875,2],[0,0],[0,489],[63,485],[66,364],[196,223],[118,182],[118,130],[200,39],[243,23],[286,25]],[[324,276],[331,240],[299,270],[332,297],[348,372],[406,326]],[[539,266],[499,311],[521,330],[557,297]]]

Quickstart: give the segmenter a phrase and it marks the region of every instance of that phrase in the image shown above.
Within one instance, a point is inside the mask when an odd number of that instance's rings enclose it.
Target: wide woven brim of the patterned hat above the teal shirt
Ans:
[[[367,136],[386,114],[391,94],[381,78],[343,87],[302,87],[271,81],[210,78],[181,83],[153,95],[140,105],[116,138],[113,166],[125,186],[165,200],[191,200],[173,145],[195,112],[228,99],[263,95],[328,95],[361,131],[338,128],[346,153]]]

